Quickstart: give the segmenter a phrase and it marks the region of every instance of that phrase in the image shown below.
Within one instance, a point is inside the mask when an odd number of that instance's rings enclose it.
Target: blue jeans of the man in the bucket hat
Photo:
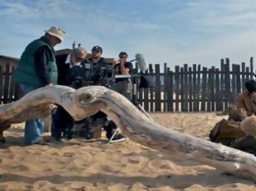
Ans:
[[[29,91],[33,91],[38,87],[29,86],[26,84],[20,84],[23,95],[27,94]],[[39,118],[37,120],[28,120],[25,123],[25,135],[24,142],[26,145],[34,144],[38,142],[45,130],[44,118]]]

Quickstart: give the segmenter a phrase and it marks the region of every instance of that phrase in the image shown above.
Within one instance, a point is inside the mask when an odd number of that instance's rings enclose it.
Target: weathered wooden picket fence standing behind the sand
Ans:
[[[150,71],[153,66],[150,65]],[[12,79],[14,66],[0,66],[0,101],[7,104],[20,98],[20,87]],[[151,72],[152,73],[152,72]],[[175,66],[171,71],[164,64],[154,65],[156,87],[139,89],[141,105],[149,112],[215,112],[233,104],[236,95],[245,90],[248,79],[254,79],[253,57],[249,66],[230,64],[228,58],[221,59],[220,67],[201,65]]]

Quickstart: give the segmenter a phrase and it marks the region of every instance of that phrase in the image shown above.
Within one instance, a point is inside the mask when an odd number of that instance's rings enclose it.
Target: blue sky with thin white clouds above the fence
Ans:
[[[51,26],[103,57],[142,53],[147,63],[174,68],[246,62],[256,54],[255,0],[0,0],[0,55],[20,57]],[[255,61],[256,62],[256,61]]]

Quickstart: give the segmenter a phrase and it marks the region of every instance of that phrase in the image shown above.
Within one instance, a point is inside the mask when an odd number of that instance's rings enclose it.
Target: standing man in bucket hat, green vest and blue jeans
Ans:
[[[54,46],[63,41],[65,32],[51,27],[44,36],[33,40],[22,53],[20,63],[15,70],[14,80],[20,83],[23,95],[39,87],[57,84],[58,70],[55,60]],[[25,144],[45,145],[42,138],[44,132],[44,119],[26,121]]]

